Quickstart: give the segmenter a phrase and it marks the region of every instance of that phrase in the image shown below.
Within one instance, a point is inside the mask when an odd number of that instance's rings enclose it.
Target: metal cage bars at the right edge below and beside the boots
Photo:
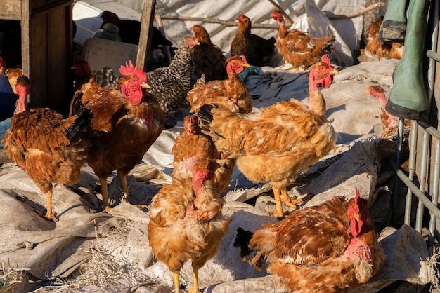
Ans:
[[[440,62],[440,54],[437,51],[437,42],[439,38],[439,0],[432,1],[430,7],[430,14],[432,15],[432,49],[428,50],[426,55],[429,57],[429,67],[427,70],[427,94],[429,100],[434,98],[434,85],[435,83],[440,83],[440,80],[436,81],[436,62]],[[438,108],[438,102],[437,108]],[[437,111],[437,125],[440,127],[440,111]],[[422,129],[422,134],[419,134],[420,128]],[[422,135],[422,144],[420,149],[418,149],[418,139],[419,135]],[[415,214],[415,229],[418,232],[422,232],[422,219],[425,207],[429,210],[429,224],[428,224],[428,247],[434,245],[436,238],[436,231],[440,233],[440,209],[439,205],[439,187],[440,187],[440,131],[429,125],[425,121],[412,121],[410,128],[409,137],[409,162],[408,168],[409,172],[406,175],[399,165],[401,163],[401,150],[403,142],[403,118],[399,118],[399,128],[397,135],[397,148],[396,148],[396,161],[397,164],[392,162],[392,166],[396,171],[397,177],[401,179],[403,184],[408,187],[408,192],[406,194],[405,201],[405,216],[404,224],[410,225],[411,220],[411,210],[412,210],[412,200],[413,195],[418,198],[418,207]],[[434,148],[432,148],[435,146]],[[434,149],[434,151],[433,151]],[[420,161],[417,162],[417,153],[420,151]],[[434,154],[431,154],[434,152]],[[432,156],[431,156],[432,155]],[[420,186],[416,186],[413,182],[415,175],[415,166],[419,163],[419,182]],[[432,172],[429,172],[429,167],[432,166]],[[428,185],[427,179],[430,175]],[[398,184],[394,186],[394,194],[396,193]],[[432,198],[426,195],[425,191],[429,191],[432,194]],[[394,196],[394,209],[396,209],[396,196]],[[396,211],[393,211],[394,217]],[[395,219],[394,219],[395,220]],[[439,227],[437,227],[439,226]]]

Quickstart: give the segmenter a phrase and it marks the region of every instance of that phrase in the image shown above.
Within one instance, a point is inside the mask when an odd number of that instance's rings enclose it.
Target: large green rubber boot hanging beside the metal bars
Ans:
[[[403,56],[393,74],[393,88],[385,109],[401,118],[418,120],[428,107],[423,75],[429,1],[410,0]]]

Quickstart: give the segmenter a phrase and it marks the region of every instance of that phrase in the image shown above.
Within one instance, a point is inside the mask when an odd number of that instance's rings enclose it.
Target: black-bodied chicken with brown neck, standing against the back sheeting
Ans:
[[[231,43],[231,55],[245,55],[252,65],[268,65],[275,48],[275,38],[264,39],[251,34],[250,19],[242,13],[238,15],[238,22],[238,30]]]

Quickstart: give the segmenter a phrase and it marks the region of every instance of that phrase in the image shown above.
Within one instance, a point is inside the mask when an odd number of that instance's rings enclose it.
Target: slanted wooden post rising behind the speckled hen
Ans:
[[[144,71],[148,69],[148,57],[150,49],[148,44],[151,42],[153,35],[151,27],[153,27],[153,18],[155,15],[156,0],[143,1],[143,12],[141,16],[141,34],[139,36],[137,64]]]

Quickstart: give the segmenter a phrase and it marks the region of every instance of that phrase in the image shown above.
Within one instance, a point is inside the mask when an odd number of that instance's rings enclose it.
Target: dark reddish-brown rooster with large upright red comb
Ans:
[[[117,171],[122,192],[130,202],[126,176],[159,137],[165,121],[155,97],[145,93],[148,86],[145,72],[131,62],[119,71],[123,75],[120,89],[107,88],[92,95],[87,91],[77,92],[71,104],[75,108],[75,101],[82,100],[93,111],[93,130],[98,134],[92,137],[87,163],[99,178],[107,212],[110,210],[107,178]]]

